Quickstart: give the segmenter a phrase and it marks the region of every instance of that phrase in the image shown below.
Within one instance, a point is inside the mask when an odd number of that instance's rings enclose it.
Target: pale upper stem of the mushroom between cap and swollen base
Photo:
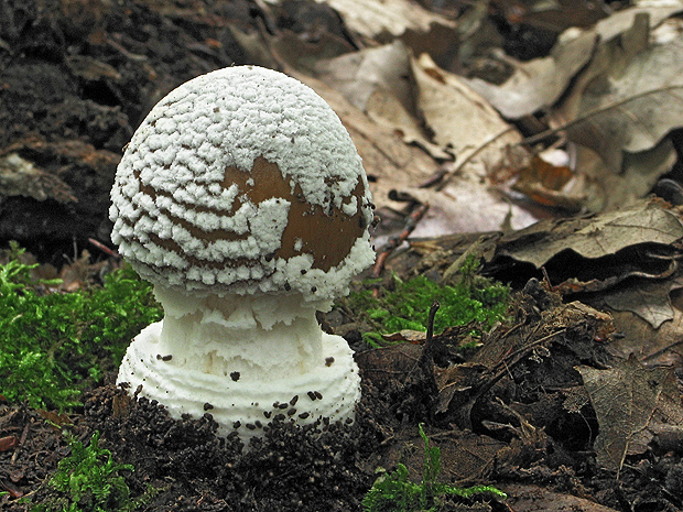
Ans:
[[[323,333],[316,309],[301,294],[193,297],[155,285],[164,307],[160,353],[172,364],[204,373],[261,381],[301,375],[323,366]]]

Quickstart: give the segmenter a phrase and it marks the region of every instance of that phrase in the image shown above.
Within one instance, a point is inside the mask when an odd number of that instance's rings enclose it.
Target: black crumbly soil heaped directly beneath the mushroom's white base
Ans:
[[[86,397],[84,421],[115,459],[135,467],[127,476],[133,495],[162,489],[154,510],[344,511],[359,510],[375,480],[365,461],[381,435],[365,402],[350,426],[274,421],[247,449],[236,434],[216,436],[209,413],[175,421],[113,385]]]

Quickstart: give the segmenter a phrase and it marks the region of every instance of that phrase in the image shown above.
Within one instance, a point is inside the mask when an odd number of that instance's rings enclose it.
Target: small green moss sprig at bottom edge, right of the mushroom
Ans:
[[[447,495],[471,498],[476,494],[489,494],[506,499],[505,492],[491,486],[460,488],[440,483],[441,449],[431,446],[427,435],[420,425],[420,437],[424,443],[424,466],[420,483],[411,482],[408,468],[399,464],[391,473],[380,476],[362,500],[365,512],[435,512],[440,510]]]

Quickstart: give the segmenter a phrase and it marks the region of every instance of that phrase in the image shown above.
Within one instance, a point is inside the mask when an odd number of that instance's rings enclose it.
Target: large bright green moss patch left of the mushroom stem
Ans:
[[[162,316],[151,286],[130,268],[104,286],[48,293],[20,250],[0,265],[0,394],[32,407],[69,410],[118,367],[130,340]]]

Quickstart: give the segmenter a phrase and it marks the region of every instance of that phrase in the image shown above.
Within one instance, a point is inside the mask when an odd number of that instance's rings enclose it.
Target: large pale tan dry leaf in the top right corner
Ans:
[[[594,149],[614,173],[625,167],[625,154],[653,149],[682,124],[683,44],[657,31],[650,39],[650,26],[681,8],[627,9],[596,24],[601,42],[552,112],[554,128],[566,128],[571,140]]]

